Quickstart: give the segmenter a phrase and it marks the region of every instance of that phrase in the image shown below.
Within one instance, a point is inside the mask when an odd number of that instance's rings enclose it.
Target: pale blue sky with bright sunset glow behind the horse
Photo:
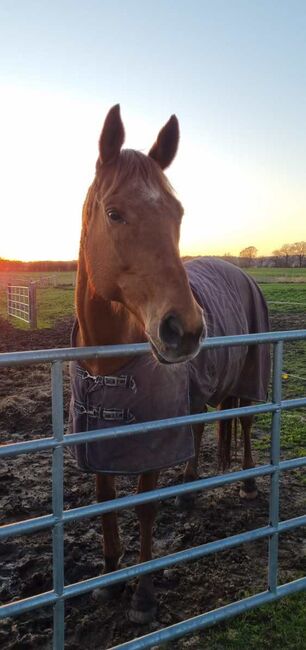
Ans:
[[[167,172],[182,254],[306,239],[305,0],[1,0],[0,257],[76,259],[97,142],[120,103]]]

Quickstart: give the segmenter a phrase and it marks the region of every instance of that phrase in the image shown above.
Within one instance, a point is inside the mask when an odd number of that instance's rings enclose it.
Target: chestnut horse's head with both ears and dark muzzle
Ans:
[[[122,150],[119,106],[110,110],[85,203],[82,240],[94,294],[127,307],[158,359],[170,363],[195,356],[204,333],[202,310],[179,255],[183,208],[163,173],[178,139],[172,115],[148,156]]]

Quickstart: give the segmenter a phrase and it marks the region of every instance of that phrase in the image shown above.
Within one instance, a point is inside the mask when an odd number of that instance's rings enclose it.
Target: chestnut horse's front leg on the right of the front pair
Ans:
[[[159,472],[146,472],[141,474],[138,481],[137,492],[154,490],[157,485]],[[140,556],[139,562],[152,559],[152,530],[156,514],[156,503],[143,503],[136,506],[136,513],[140,527]],[[156,612],[156,600],[152,576],[143,575],[139,578],[136,591],[133,595],[129,618],[133,623],[149,623]]]

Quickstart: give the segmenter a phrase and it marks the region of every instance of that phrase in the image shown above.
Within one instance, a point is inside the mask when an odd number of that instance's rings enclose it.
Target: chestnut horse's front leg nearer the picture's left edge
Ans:
[[[116,497],[116,479],[110,474],[96,475],[97,501],[109,501]],[[104,547],[104,573],[116,571],[122,554],[117,513],[108,512],[102,515],[103,547]],[[118,596],[124,589],[123,583],[96,589],[94,596],[108,600]]]

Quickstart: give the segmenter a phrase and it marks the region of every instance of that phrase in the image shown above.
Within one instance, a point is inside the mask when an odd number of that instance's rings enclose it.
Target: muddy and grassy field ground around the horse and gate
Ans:
[[[251,269],[269,302],[273,330],[306,327],[306,269]],[[64,282],[63,282],[64,284]],[[0,351],[68,347],[73,320],[71,286],[38,289],[38,330],[5,318],[5,292],[0,289]],[[299,397],[306,388],[306,343],[286,344],[283,394]],[[69,380],[65,374],[65,415],[69,404]],[[1,442],[26,440],[51,433],[50,373],[44,365],[6,368],[0,376]],[[254,447],[256,462],[268,462],[270,415],[256,419]],[[282,414],[282,458],[306,453],[305,410]],[[240,467],[240,444],[233,469]],[[203,439],[200,472],[215,474],[216,442],[214,428],[207,427]],[[163,472],[161,484],[181,480],[182,468]],[[178,512],[172,501],[159,507],[156,522],[155,556],[196,546],[243,530],[265,525],[268,516],[269,482],[258,481],[260,494],[255,503],[242,504],[238,486],[228,485],[199,494],[195,509]],[[19,456],[2,463],[0,468],[0,521],[10,523],[50,511],[51,463],[47,452],[30,457]],[[135,479],[124,477],[119,496],[135,487]],[[286,472],[281,481],[281,519],[305,513],[306,480],[301,470]],[[93,479],[82,476],[65,452],[65,506],[77,507],[95,501]],[[125,540],[124,565],[134,564],[137,535],[132,511],[120,515]],[[305,535],[302,528],[280,538],[281,582],[306,573]],[[65,531],[65,577],[67,583],[92,577],[102,570],[101,524],[99,519],[71,523]],[[1,603],[27,597],[51,588],[52,542],[50,532],[0,543],[3,565],[0,575]],[[267,541],[261,540],[223,551],[216,556],[179,565],[156,575],[160,600],[157,621],[137,627],[122,616],[130,599],[131,585],[123,594],[122,607],[117,602],[94,602],[90,595],[72,599],[67,604],[66,643],[69,650],[80,647],[108,648],[149,630],[195,616],[203,611],[251,595],[266,586]],[[167,647],[223,648],[305,648],[304,625],[306,594],[266,606],[229,623],[171,642]],[[0,646],[16,648],[51,647],[51,612],[37,610],[18,619],[0,624]]]

